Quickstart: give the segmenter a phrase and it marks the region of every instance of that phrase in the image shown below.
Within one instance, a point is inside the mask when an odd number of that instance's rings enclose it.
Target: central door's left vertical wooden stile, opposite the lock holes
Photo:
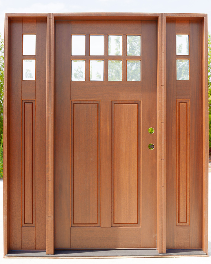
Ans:
[[[71,22],[55,24],[55,247],[70,248]]]

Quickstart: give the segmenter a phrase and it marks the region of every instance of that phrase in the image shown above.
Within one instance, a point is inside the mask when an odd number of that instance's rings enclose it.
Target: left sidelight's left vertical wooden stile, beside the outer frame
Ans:
[[[10,249],[21,249],[22,21],[11,21],[10,45]]]

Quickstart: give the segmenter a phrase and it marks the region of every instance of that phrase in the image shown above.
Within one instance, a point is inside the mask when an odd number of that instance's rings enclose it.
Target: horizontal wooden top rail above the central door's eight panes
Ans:
[[[141,35],[141,21],[72,21],[72,34]]]

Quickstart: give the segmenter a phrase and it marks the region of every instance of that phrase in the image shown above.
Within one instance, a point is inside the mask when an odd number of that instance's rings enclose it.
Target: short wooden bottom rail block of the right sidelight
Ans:
[[[190,226],[177,225],[176,227],[176,248],[190,248]]]

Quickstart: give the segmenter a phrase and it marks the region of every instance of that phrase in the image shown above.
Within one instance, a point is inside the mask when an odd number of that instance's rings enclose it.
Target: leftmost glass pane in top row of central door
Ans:
[[[86,55],[85,35],[72,35],[72,55]]]

